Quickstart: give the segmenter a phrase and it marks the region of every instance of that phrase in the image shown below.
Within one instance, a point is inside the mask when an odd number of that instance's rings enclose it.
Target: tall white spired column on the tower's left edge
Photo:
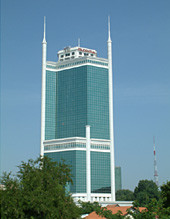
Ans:
[[[44,17],[44,38],[42,41],[42,86],[41,86],[41,150],[40,155],[44,155],[45,140],[45,90],[46,90],[46,56],[47,42],[45,39],[45,17]]]

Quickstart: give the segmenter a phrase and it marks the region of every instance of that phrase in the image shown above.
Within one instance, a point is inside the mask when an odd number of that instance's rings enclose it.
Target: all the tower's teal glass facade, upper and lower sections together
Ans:
[[[89,62],[79,67],[64,70],[58,67],[56,71],[52,67],[51,71],[46,71],[45,140],[86,137],[86,125],[90,125],[92,139],[109,140],[107,64],[97,67]],[[75,147],[84,150],[75,150]],[[71,193],[86,193],[85,147],[85,144],[78,143],[44,146],[45,156],[55,161],[64,159],[71,165]],[[72,150],[67,151],[68,148]],[[91,191],[109,193],[104,189],[110,187],[111,182],[109,146],[101,143],[93,144],[91,148],[101,150],[91,151]]]

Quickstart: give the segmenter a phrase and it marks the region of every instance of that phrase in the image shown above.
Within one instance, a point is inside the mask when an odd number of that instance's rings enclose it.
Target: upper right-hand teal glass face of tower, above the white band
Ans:
[[[108,69],[87,67],[87,124],[91,138],[109,139]]]

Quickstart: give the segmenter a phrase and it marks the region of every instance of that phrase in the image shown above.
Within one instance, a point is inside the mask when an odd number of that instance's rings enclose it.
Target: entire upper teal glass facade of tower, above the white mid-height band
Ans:
[[[45,139],[109,139],[108,69],[81,66],[46,74]],[[102,130],[102,132],[101,132]]]

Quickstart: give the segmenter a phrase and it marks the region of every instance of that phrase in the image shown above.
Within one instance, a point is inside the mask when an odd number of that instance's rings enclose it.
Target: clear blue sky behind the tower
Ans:
[[[43,17],[47,60],[66,46],[107,58],[111,19],[115,160],[123,188],[170,180],[170,1],[1,0],[1,171],[40,153]]]

